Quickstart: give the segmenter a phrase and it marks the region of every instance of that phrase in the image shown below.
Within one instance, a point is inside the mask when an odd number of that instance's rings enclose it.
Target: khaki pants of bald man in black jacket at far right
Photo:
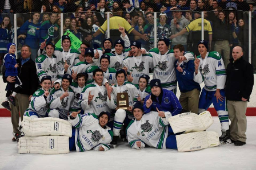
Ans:
[[[246,108],[247,102],[227,101],[227,110],[229,110],[230,136],[232,140],[246,141]]]

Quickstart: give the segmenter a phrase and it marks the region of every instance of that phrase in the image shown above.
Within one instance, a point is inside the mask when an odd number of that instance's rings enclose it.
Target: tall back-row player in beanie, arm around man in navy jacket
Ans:
[[[159,39],[158,48],[150,49],[149,53],[153,56],[154,72],[153,78],[161,80],[162,88],[177,92],[177,78],[175,73],[175,57],[173,49],[168,49],[170,40],[167,38]],[[181,61],[194,59],[193,55],[180,56]]]

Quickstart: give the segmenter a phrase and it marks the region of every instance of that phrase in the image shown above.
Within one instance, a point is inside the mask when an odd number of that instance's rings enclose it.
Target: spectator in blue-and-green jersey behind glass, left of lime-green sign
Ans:
[[[50,16],[50,20],[46,20],[41,25],[41,40],[40,43],[44,42],[46,43],[52,42],[54,38],[58,37],[58,30],[59,26],[56,23],[57,21],[57,14],[52,13]],[[57,42],[56,42],[57,43]]]

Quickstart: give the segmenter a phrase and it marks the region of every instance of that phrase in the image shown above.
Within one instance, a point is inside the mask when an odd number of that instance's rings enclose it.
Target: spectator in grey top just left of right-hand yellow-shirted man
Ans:
[[[189,25],[189,20],[187,20],[183,15],[181,9],[177,8],[174,11],[174,19],[171,20],[171,34],[176,34],[181,31],[183,28]],[[173,49],[174,45],[181,44],[187,51],[187,37],[189,32],[179,36],[178,38],[174,38],[171,42],[171,49]]]

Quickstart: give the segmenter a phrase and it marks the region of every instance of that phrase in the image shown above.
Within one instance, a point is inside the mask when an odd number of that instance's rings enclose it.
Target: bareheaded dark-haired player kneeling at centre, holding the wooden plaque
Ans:
[[[123,123],[125,123],[126,127],[130,120],[133,119],[133,114],[131,113],[131,111],[134,104],[134,98],[138,97],[137,88],[133,84],[131,84],[131,82],[125,81],[126,73],[123,69],[117,71],[115,76],[117,78],[117,85],[112,86],[113,89],[107,90],[107,105],[110,107],[110,109],[114,110],[117,107],[117,93],[128,93],[130,107],[126,110],[117,109],[117,111],[115,112],[113,127],[114,138],[113,142],[111,143],[114,145],[118,142],[119,132],[121,130],[121,127],[123,126]]]

